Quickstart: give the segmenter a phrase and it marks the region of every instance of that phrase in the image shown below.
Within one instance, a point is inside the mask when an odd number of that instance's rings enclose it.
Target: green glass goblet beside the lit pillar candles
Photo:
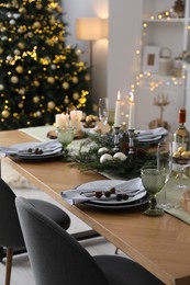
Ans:
[[[68,146],[74,140],[75,128],[70,126],[57,127],[57,139],[63,145],[65,156],[68,155]]]

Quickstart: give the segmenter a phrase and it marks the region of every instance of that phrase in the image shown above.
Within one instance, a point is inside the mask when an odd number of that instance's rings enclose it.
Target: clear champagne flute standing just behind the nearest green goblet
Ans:
[[[157,148],[157,168],[166,173],[165,184],[168,182],[172,171],[172,150],[169,141],[161,141]],[[167,202],[166,187],[164,189],[164,201],[159,204],[164,209],[172,208],[172,204]]]

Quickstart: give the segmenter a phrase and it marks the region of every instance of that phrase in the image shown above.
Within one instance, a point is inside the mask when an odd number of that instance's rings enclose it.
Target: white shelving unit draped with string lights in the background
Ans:
[[[171,50],[171,59],[182,52],[190,52],[190,0],[185,0],[185,15],[160,16],[171,11],[175,0],[144,0],[142,13],[142,58],[145,46],[167,47]],[[190,69],[185,69],[190,72]],[[145,72],[145,70],[142,70]],[[179,77],[161,76],[159,71],[143,76],[137,82],[136,124],[148,127],[149,122],[159,118],[159,107],[154,105],[157,96],[165,95],[170,102],[164,112],[164,121],[170,125],[174,133],[178,126],[178,111],[186,106],[190,128],[190,73],[187,80],[183,73]],[[189,110],[188,110],[189,109]],[[147,110],[147,112],[145,112]]]

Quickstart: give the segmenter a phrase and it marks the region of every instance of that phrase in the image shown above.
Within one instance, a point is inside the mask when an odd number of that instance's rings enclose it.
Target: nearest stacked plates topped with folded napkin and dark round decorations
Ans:
[[[63,191],[62,196],[71,205],[83,203],[99,208],[132,208],[148,202],[139,178],[128,181],[98,180]]]

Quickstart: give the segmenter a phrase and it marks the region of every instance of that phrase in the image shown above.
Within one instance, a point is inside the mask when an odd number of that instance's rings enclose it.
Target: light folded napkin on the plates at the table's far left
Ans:
[[[11,147],[0,147],[1,156],[13,156],[13,155],[29,155],[29,149],[42,149],[43,153],[56,152],[62,150],[62,145],[58,140],[46,141],[46,142],[23,142],[13,145]]]

